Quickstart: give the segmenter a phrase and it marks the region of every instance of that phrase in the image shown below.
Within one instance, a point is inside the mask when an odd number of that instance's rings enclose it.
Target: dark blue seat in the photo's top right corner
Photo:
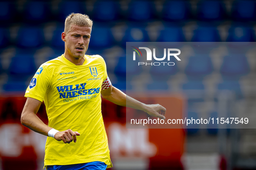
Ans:
[[[237,21],[255,21],[256,3],[254,0],[237,0],[232,6],[232,19]]]

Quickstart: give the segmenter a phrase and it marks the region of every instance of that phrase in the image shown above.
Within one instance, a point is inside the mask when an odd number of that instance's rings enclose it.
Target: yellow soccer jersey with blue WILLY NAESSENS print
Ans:
[[[100,91],[106,79],[106,64],[99,55],[85,55],[79,66],[62,55],[39,67],[25,97],[45,102],[49,127],[80,133],[70,144],[48,137],[45,166],[101,161],[112,167],[101,114]]]

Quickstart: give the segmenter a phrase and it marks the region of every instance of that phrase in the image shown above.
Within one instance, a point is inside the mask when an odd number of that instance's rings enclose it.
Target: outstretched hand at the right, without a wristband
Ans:
[[[166,109],[160,104],[147,104],[147,109],[144,110],[150,116],[159,117],[160,119],[165,120]]]

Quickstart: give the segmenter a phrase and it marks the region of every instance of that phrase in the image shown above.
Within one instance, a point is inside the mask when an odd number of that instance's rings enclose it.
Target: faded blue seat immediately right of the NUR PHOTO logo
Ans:
[[[202,80],[213,72],[211,58],[205,55],[192,56],[188,60],[185,73],[189,80]]]

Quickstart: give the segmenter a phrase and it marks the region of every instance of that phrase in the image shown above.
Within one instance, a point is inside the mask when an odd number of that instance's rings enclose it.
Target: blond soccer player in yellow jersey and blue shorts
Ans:
[[[113,87],[102,57],[85,55],[91,28],[92,21],[87,15],[70,14],[62,32],[65,53],[43,63],[26,90],[21,123],[49,136],[44,160],[47,170],[112,167],[100,94],[115,104],[165,119],[165,108],[161,105],[143,104]],[[42,101],[48,126],[36,116]]]

